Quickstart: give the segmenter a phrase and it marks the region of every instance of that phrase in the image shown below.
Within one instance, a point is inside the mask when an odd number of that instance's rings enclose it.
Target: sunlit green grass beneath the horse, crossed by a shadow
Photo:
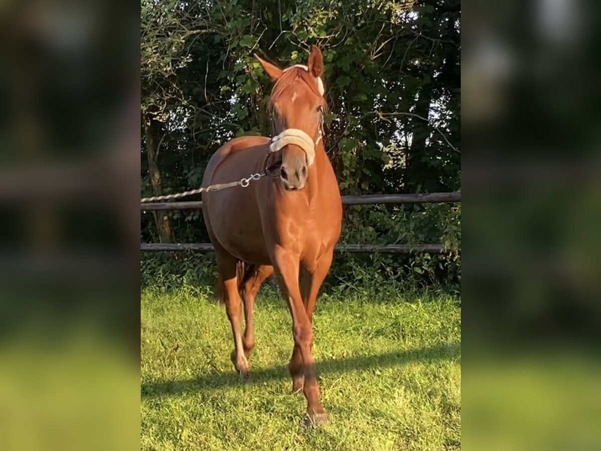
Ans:
[[[303,425],[291,394],[291,320],[262,290],[251,377],[230,363],[230,325],[207,292],[145,289],[141,300],[142,449],[460,449],[460,304],[450,295],[320,296],[314,315],[322,402]]]

